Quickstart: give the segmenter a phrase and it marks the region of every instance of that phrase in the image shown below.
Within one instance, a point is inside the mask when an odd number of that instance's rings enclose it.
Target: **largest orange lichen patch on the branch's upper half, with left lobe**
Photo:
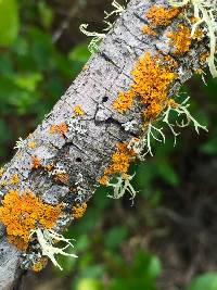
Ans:
[[[170,56],[152,56],[146,52],[131,72],[133,84],[130,89],[118,94],[113,106],[124,113],[130,109],[132,100],[139,98],[145,105],[144,115],[150,119],[156,117],[165,106],[170,85],[177,77],[176,67],[177,63]]]

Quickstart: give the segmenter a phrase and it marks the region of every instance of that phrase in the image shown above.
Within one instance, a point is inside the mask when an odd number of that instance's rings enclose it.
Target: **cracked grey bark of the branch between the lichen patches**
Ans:
[[[52,112],[46,116],[41,125],[28,137],[22,149],[18,149],[12,161],[5,165],[2,180],[10,180],[13,174],[18,173],[21,180],[17,185],[1,187],[3,194],[9,189],[30,189],[44,202],[72,204],[74,200],[88,201],[93,194],[97,180],[103,175],[110,163],[111,154],[118,141],[129,140],[139,134],[141,113],[138,108],[119,114],[112,103],[120,90],[127,90],[132,79],[130,71],[138,58],[145,51],[169,53],[169,47],[162,36],[152,37],[141,33],[145,23],[145,11],[153,4],[166,5],[165,0],[132,0],[127,10],[117,20],[114,28],[108,33],[100,49],[94,53],[79,76],[74,80],[65,94],[55,104]],[[176,20],[171,25],[174,25]],[[164,29],[161,28],[161,35]],[[167,27],[165,28],[165,30]],[[182,71],[170,90],[177,92],[187,79],[192,76],[193,68],[197,67],[199,45],[179,60]],[[82,133],[69,129],[64,136],[50,134],[50,127],[61,123],[71,124],[73,109],[80,104],[86,115],[79,117]],[[125,131],[123,124],[135,119],[138,129]],[[28,142],[34,140],[34,149]],[[69,181],[60,182],[42,167],[31,168],[31,159],[37,155],[42,165],[61,163],[64,165]],[[82,176],[82,180],[80,180]],[[75,184],[80,184],[81,192],[72,192]],[[71,222],[65,220],[65,223]],[[61,226],[63,226],[61,224]],[[0,289],[13,289],[21,276],[21,252],[7,242],[5,229],[2,226],[0,240]]]

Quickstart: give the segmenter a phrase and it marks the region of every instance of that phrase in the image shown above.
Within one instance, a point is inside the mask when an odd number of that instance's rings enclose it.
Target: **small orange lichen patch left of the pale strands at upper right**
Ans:
[[[182,54],[189,51],[191,46],[191,29],[180,24],[178,30],[167,33],[167,37],[170,38],[170,46],[175,48],[174,53]]]

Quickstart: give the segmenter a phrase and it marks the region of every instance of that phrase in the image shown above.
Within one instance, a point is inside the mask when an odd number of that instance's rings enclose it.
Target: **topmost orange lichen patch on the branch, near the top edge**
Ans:
[[[181,12],[178,8],[165,8],[163,5],[153,5],[146,13],[146,17],[150,20],[151,24],[156,26],[167,26],[171,23]]]

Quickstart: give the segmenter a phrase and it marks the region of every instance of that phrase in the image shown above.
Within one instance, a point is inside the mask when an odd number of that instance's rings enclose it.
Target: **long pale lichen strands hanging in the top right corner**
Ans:
[[[217,46],[217,1],[212,0],[169,0],[173,7],[192,5],[193,14],[196,22],[192,25],[191,37],[194,36],[196,29],[204,24],[204,31],[209,38],[209,56],[207,59],[208,67],[213,77],[217,77],[215,65],[215,53]]]

